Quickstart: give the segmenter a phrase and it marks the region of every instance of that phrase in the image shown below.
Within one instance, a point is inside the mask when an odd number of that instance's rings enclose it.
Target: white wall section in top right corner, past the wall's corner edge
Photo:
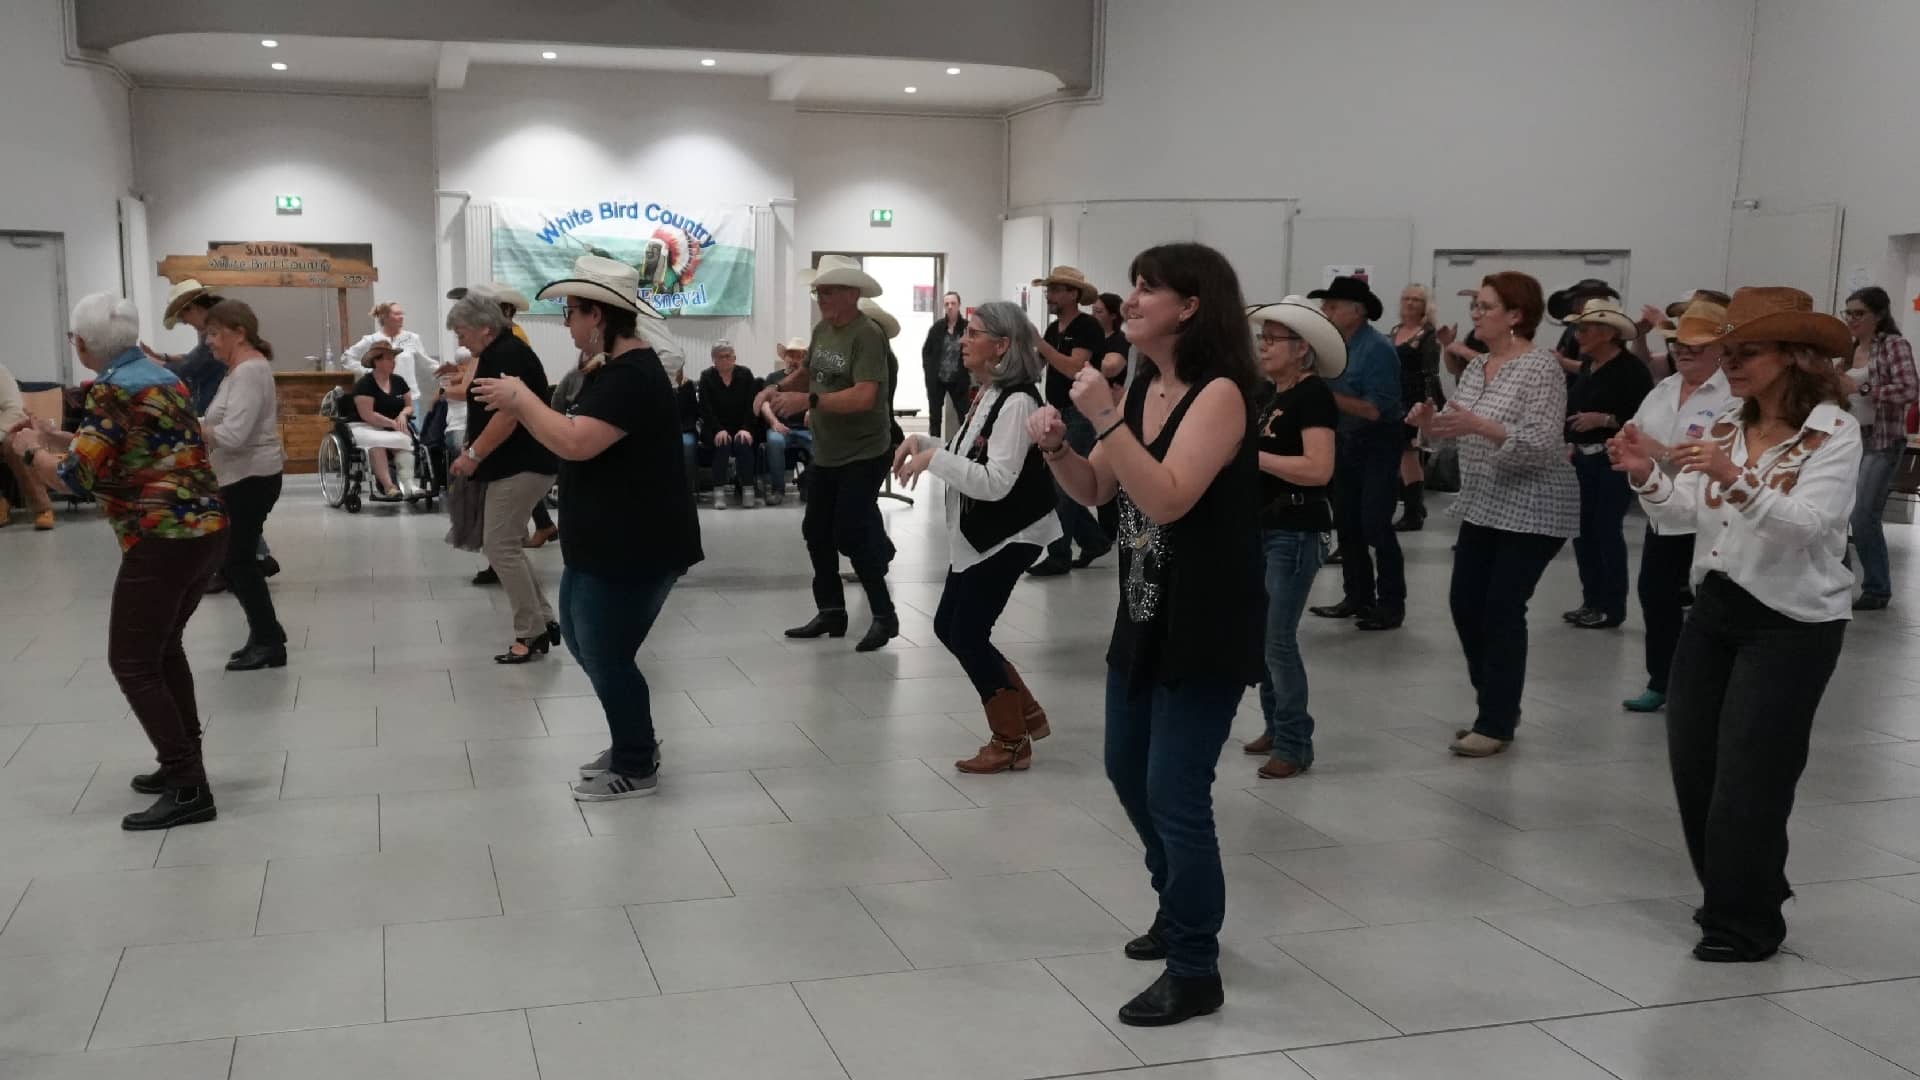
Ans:
[[[1920,233],[1916,46],[1914,0],[1761,0],[1740,171],[1763,209],[1843,206],[1841,294],[1864,279],[1899,309],[1912,294],[1887,238]]]

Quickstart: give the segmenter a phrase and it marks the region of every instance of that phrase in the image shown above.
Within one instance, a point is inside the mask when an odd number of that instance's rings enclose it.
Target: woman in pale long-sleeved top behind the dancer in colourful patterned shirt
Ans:
[[[273,386],[273,346],[259,340],[259,319],[238,300],[221,300],[207,311],[207,348],[227,365],[200,430],[213,459],[213,477],[227,502],[232,532],[221,575],[246,611],[246,646],[232,653],[227,671],[286,667],[286,630],[273,609],[267,575],[255,552],[273,503],[280,502],[280,402]]]

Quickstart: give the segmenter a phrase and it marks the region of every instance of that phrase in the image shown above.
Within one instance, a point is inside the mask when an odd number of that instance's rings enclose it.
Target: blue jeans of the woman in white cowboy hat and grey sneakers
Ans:
[[[653,774],[653,701],[636,655],[672,592],[678,573],[609,580],[566,567],[561,573],[561,636],[593,684],[612,736],[612,771]]]

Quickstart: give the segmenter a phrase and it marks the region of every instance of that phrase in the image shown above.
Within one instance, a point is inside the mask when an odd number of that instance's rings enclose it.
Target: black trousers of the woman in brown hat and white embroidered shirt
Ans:
[[[1707,901],[1699,926],[1747,951],[1788,934],[1788,815],[1847,623],[1795,623],[1713,573],[1680,630],[1667,755]]]

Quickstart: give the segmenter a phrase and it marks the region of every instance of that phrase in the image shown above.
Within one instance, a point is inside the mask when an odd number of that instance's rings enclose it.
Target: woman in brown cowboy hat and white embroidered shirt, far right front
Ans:
[[[1634,425],[1607,448],[1647,517],[1699,536],[1667,753],[1705,890],[1701,961],[1763,961],[1788,930],[1793,786],[1851,617],[1860,425],[1832,363],[1847,340],[1797,288],[1741,288],[1715,338],[1740,405],[1665,454]]]

